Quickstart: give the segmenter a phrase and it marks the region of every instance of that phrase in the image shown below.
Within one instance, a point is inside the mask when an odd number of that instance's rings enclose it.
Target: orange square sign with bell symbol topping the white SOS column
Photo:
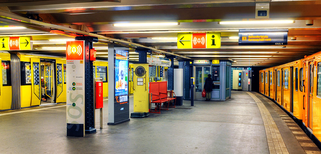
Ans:
[[[84,60],[85,41],[75,40],[67,41],[66,59],[67,60]]]

